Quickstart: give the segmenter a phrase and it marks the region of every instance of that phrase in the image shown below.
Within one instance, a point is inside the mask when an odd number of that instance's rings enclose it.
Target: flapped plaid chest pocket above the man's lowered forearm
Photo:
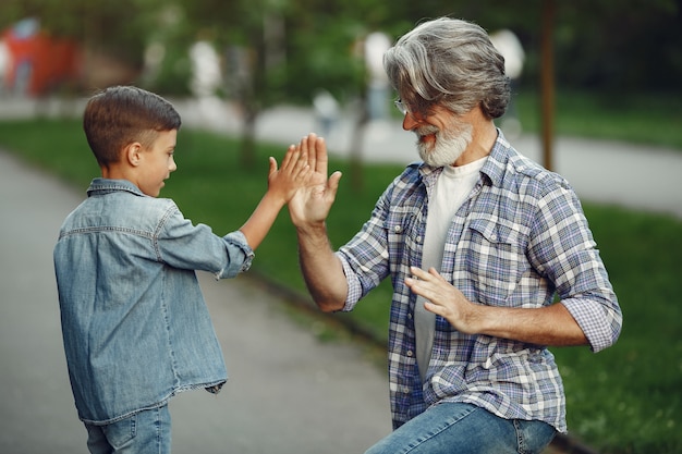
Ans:
[[[459,247],[458,269],[465,270],[478,303],[509,306],[519,282],[531,266],[525,255],[526,236],[517,229],[485,219],[473,220]]]

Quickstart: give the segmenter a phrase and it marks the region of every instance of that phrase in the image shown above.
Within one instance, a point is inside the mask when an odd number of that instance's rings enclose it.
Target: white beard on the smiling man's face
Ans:
[[[455,119],[444,130],[436,126],[422,126],[415,130],[417,135],[417,150],[424,162],[431,167],[453,165],[454,161],[466,150],[472,143],[473,127],[468,123]],[[422,142],[419,138],[434,134],[434,145]]]

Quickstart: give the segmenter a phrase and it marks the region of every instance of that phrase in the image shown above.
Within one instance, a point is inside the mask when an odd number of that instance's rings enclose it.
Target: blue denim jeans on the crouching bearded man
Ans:
[[[540,453],[555,434],[544,421],[504,419],[476,405],[441,403],[365,454],[532,454]]]

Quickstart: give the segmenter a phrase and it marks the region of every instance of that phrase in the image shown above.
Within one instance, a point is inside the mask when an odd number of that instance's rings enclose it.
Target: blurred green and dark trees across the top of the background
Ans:
[[[395,39],[418,21],[441,15],[475,21],[489,32],[512,29],[526,50],[520,85],[536,86],[541,10],[550,1],[2,0],[0,29],[37,17],[41,29],[73,38],[86,56],[106,54],[129,68],[126,79],[117,83],[165,95],[188,94],[187,51],[207,40],[222,57],[220,94],[259,109],[307,103],[319,87],[342,102],[357,96],[365,82],[357,46],[364,36],[381,30]],[[559,88],[605,95],[679,89],[682,0],[573,0],[555,8]],[[162,59],[151,77],[145,54],[153,45]],[[235,61],[245,69],[231,68]],[[243,79],[235,82],[238,75]]]

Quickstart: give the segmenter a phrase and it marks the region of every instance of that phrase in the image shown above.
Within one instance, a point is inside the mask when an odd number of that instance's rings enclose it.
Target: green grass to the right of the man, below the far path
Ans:
[[[602,453],[678,453],[682,222],[587,206],[586,216],[623,309],[618,343],[597,355],[557,348],[570,428]]]

